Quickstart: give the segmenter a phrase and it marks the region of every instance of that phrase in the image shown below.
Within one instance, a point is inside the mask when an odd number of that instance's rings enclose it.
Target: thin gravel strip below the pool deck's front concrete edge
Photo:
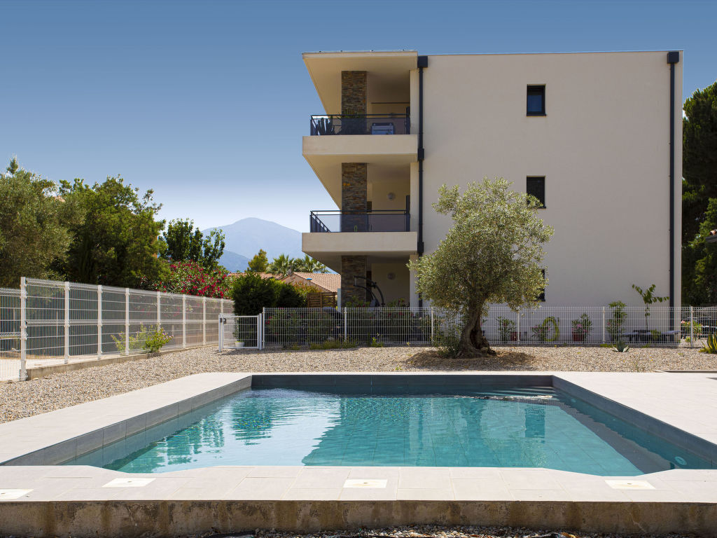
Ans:
[[[439,527],[419,525],[414,527],[391,527],[390,529],[337,530],[313,534],[263,531],[236,534],[207,534],[205,538],[622,538],[622,534],[584,534],[569,531],[546,531],[511,529],[509,527]],[[631,535],[636,538],[635,534]],[[641,538],[687,538],[689,534],[640,534]]]

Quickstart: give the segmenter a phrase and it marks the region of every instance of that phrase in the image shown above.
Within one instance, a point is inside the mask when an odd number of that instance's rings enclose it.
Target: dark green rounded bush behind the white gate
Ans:
[[[255,316],[262,308],[304,308],[308,286],[295,286],[246,273],[232,283],[234,313],[237,316]]]

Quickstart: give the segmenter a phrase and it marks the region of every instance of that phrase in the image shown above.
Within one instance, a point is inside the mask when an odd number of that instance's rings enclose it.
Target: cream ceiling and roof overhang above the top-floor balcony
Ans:
[[[418,52],[305,52],[304,63],[327,114],[341,113],[341,71],[369,72],[371,102],[408,102]]]

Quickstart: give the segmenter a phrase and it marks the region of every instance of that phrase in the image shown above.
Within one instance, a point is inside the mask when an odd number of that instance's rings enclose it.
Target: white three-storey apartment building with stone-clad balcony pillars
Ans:
[[[406,265],[451,225],[438,188],[503,176],[555,228],[544,304],[639,306],[655,283],[680,306],[682,55],[304,54],[324,112],[303,155],[338,210],[311,212],[303,251],[344,303],[368,277],[419,306]]]

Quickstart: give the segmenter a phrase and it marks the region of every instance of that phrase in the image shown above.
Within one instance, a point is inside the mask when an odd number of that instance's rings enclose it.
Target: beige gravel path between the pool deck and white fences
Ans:
[[[444,359],[431,348],[386,347],[326,351],[190,349],[22,383],[0,384],[0,423],[141,389],[200,372],[407,372],[425,370],[581,370],[646,372],[716,369],[717,356],[696,349],[599,347],[496,348],[490,359]]]

